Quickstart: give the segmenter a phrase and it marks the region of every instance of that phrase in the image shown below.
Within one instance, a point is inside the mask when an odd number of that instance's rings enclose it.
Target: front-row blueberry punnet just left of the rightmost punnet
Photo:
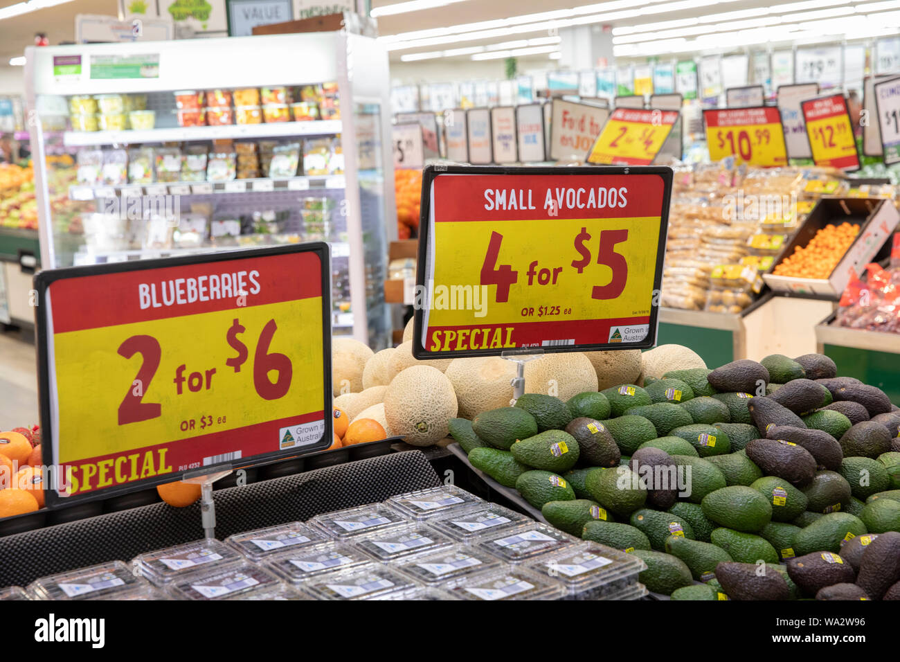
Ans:
[[[559,582],[510,566],[460,577],[441,588],[462,600],[559,600],[565,595]]]

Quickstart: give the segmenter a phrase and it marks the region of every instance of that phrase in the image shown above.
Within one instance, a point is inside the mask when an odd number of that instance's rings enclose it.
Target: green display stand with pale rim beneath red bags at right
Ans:
[[[817,351],[841,366],[843,375],[878,386],[892,402],[900,402],[900,335],[836,326],[836,314],[816,325]]]

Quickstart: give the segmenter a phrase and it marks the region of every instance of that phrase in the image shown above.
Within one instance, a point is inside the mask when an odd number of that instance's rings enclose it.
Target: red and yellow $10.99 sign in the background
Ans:
[[[774,106],[703,111],[709,158],[734,156],[738,163],[775,167],[788,165],[788,148],[781,114]]]

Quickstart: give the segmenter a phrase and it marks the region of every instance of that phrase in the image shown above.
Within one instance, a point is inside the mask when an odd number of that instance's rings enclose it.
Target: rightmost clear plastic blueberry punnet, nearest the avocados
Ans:
[[[527,567],[540,575],[553,577],[570,595],[623,583],[623,580],[627,585],[629,578],[633,578],[630,584],[636,584],[638,574],[646,568],[640,558],[592,542],[546,554],[529,562]],[[621,593],[624,588],[617,586],[611,591]]]

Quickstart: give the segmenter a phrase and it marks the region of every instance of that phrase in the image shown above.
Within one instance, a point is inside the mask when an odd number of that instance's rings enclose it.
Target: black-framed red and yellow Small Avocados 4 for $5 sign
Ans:
[[[425,168],[413,355],[644,349],[671,168]]]

